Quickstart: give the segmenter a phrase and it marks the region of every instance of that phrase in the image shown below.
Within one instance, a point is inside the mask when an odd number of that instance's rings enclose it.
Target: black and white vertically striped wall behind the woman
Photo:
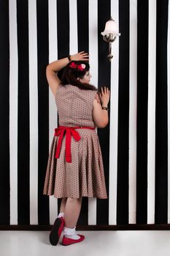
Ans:
[[[77,225],[170,224],[168,0],[0,1],[0,225],[52,225],[61,199],[42,195],[58,125],[45,67],[85,50],[95,86],[109,86],[97,129],[108,200],[84,197]],[[121,36],[101,36],[112,16]]]

